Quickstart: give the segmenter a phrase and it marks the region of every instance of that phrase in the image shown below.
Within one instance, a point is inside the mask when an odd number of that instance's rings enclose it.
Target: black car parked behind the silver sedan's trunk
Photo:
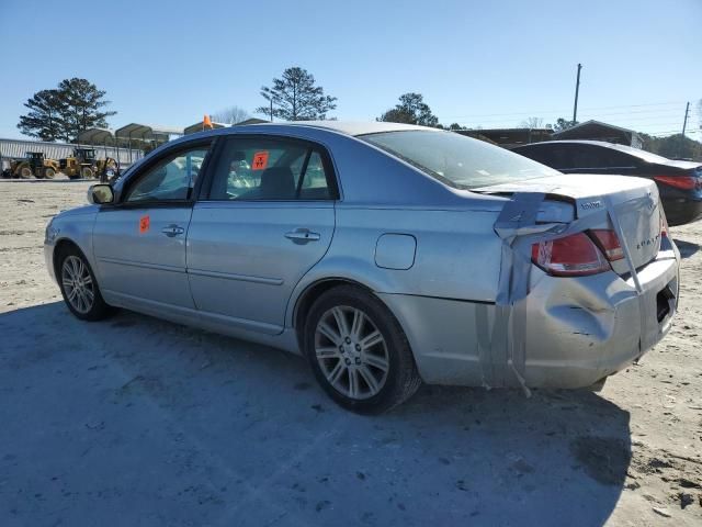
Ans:
[[[611,173],[653,179],[670,225],[702,217],[702,164],[600,141],[548,141],[512,152],[564,173]]]

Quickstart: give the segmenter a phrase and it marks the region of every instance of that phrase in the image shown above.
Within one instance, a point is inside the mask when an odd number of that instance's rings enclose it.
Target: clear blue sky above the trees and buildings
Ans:
[[[573,113],[577,63],[579,120],[666,134],[686,101],[702,120],[702,0],[0,0],[0,137],[20,137],[23,102],[68,77],[107,91],[113,127],[184,126],[251,112],[292,65],[344,120],[417,91],[445,124],[548,123]]]

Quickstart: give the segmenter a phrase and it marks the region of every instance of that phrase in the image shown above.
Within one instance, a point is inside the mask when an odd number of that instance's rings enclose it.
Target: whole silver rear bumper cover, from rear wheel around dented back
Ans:
[[[661,250],[638,270],[638,280],[641,293],[632,278],[614,272],[564,279],[534,268],[531,291],[523,299],[524,384],[587,388],[631,365],[658,343],[677,310],[677,250]],[[660,294],[669,300],[665,312],[659,309]],[[378,296],[398,317],[426,382],[520,385],[501,357],[491,362],[480,359],[491,340],[502,337],[494,332],[494,304],[404,294]],[[508,341],[512,338],[506,337]]]

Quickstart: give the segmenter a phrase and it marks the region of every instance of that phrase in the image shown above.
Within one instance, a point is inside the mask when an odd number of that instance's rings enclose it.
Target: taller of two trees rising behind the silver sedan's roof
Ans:
[[[315,86],[315,78],[306,69],[294,66],[283,71],[273,86],[261,88],[261,96],[269,101],[256,113],[271,114],[285,121],[310,121],[327,119],[327,112],[337,108],[336,97],[325,96],[321,86]]]

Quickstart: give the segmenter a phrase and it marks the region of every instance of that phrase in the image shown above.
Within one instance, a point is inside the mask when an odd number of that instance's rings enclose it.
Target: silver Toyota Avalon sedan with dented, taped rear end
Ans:
[[[156,149],[47,226],[68,309],[301,354],[380,412],[435,384],[585,388],[670,327],[656,186],[393,123],[236,126]]]

